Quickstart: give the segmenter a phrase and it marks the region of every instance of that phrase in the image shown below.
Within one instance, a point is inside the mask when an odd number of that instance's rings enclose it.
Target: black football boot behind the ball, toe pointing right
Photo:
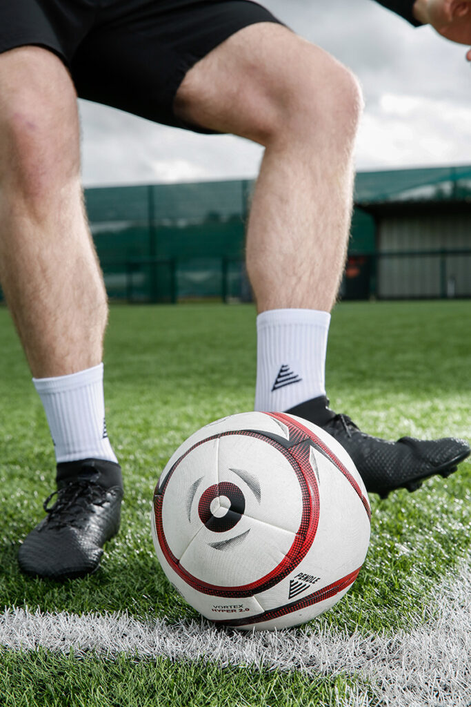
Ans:
[[[434,474],[448,477],[471,452],[465,440],[447,437],[417,440],[401,437],[397,442],[362,432],[348,415],[330,410],[328,398],[320,396],[287,410],[322,427],[349,453],[366,491],[386,498],[390,491],[416,491]]]

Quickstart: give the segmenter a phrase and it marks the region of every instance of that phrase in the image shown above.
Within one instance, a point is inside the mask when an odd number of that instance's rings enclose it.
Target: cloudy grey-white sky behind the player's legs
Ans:
[[[366,111],[357,168],[471,164],[467,47],[415,29],[373,0],[261,0],[357,74]],[[254,177],[261,148],[80,102],[85,186]]]

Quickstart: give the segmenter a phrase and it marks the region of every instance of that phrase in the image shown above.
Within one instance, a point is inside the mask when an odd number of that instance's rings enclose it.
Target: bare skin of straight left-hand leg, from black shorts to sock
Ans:
[[[0,54],[0,281],[35,378],[100,363],[107,299],[83,208],[76,93],[40,47]]]

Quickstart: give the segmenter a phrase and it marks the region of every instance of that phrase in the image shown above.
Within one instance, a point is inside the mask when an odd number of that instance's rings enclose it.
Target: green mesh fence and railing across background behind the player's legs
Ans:
[[[357,199],[373,199],[391,188],[393,177],[409,189],[431,176],[449,179],[450,170],[422,171],[359,174]],[[470,177],[469,169],[464,176],[462,171],[460,177]],[[244,238],[253,187],[233,180],[85,189],[109,297],[136,303],[250,300]],[[374,216],[354,209],[342,298],[471,297],[471,250],[376,252],[375,238]]]

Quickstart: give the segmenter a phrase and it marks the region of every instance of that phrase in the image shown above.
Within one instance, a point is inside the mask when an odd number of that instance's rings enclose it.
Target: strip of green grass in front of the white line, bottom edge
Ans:
[[[54,674],[54,681],[51,681]],[[354,689],[351,677],[316,677],[201,663],[100,660],[39,650],[4,655],[4,707],[297,707],[330,705]]]

